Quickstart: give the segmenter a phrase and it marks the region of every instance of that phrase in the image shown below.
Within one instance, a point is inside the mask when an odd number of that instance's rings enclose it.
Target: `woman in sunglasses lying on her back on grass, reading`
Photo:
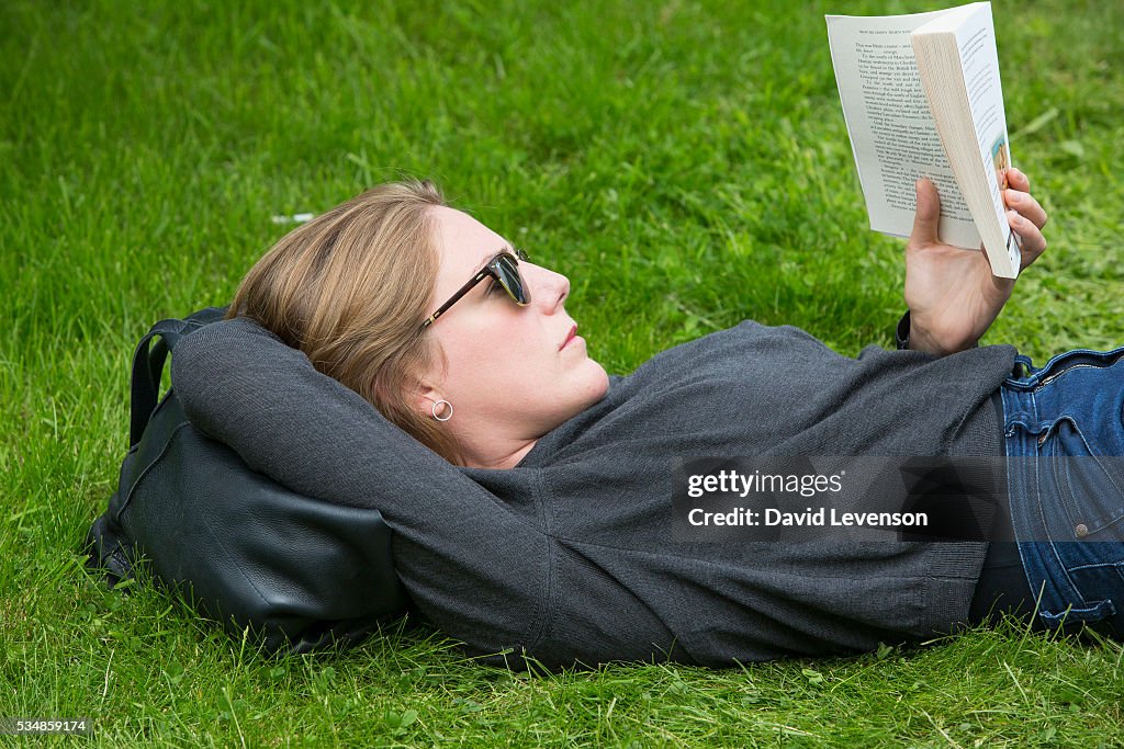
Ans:
[[[1008,180],[1025,267],[1046,216],[1025,175]],[[382,185],[282,238],[234,319],[180,344],[173,380],[253,468],[379,509],[418,611],[500,663],[856,652],[1036,602],[1037,625],[1068,612],[1118,634],[1124,545],[1090,541],[1124,497],[1069,493],[1033,462],[1010,462],[1018,547],[673,539],[677,457],[1124,455],[1120,351],[1039,371],[976,347],[1014,282],[941,244],[939,214],[919,183],[909,350],[852,359],[745,321],[610,377],[565,311],[565,276],[428,183]]]

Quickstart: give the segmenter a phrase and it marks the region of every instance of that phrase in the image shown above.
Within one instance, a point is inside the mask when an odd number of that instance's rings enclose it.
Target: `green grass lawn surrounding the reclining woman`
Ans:
[[[271,660],[78,554],[147,326],[225,303],[271,216],[401,174],[566,273],[611,372],[744,318],[889,346],[903,243],[865,228],[822,15],[939,6],[0,4],[0,718],[105,745],[1121,746],[1120,646],[1010,623],[729,670],[511,674],[426,629]],[[1052,219],[987,341],[1114,346],[1124,6],[996,18]]]

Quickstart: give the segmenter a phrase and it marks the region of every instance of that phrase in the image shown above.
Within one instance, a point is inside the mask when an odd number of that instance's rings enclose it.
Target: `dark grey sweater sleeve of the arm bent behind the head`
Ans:
[[[518,657],[532,645],[552,554],[534,513],[486,491],[252,320],[182,339],[172,382],[192,423],[254,471],[314,497],[378,509],[395,530],[395,566],[411,599],[470,651],[514,648]]]

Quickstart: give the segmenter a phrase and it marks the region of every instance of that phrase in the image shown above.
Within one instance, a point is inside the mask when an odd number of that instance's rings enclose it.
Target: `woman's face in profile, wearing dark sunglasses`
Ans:
[[[434,216],[441,254],[436,309],[511,245],[461,211],[436,208]],[[437,360],[424,378],[424,408],[428,412],[438,398],[453,404],[445,424],[470,465],[515,465],[535,439],[608,390],[605,368],[586,354],[586,341],[570,337],[575,322],[563,307],[570,281],[526,261],[519,262],[519,274],[531,292],[526,307],[486,277],[425,334],[441,346],[447,369]]]

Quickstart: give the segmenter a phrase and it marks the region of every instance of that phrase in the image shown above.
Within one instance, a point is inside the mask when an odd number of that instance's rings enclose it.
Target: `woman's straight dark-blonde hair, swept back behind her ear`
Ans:
[[[256,320],[321,373],[451,463],[456,441],[418,413],[408,384],[439,357],[422,335],[441,259],[428,181],[382,184],[282,237],[246,274],[228,318]]]

